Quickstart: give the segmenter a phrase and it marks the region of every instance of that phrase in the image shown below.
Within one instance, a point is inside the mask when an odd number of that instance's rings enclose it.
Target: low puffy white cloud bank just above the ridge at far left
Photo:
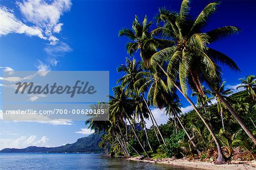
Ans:
[[[37,139],[36,135],[31,135],[30,137],[19,137],[17,139],[0,139],[0,150],[3,148],[26,148],[28,146],[48,146],[49,139],[43,136]]]

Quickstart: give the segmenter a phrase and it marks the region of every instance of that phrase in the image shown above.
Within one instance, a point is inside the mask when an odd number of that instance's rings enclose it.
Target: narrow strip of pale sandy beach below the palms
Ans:
[[[195,168],[195,169],[210,169],[210,170],[242,170],[242,169],[256,169],[256,162],[233,162],[232,164],[222,164],[217,165],[210,162],[200,162],[200,161],[189,161],[183,159],[165,159],[165,160],[141,160],[138,158],[126,158],[126,160],[137,161],[137,162],[145,162],[145,163],[157,163],[157,164],[166,164],[172,165],[174,167],[186,167],[186,168]]]

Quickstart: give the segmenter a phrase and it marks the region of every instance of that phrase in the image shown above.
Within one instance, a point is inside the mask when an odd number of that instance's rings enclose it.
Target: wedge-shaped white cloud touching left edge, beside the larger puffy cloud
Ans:
[[[9,33],[24,33],[28,36],[38,36],[46,40],[42,29],[39,27],[29,27],[14,16],[14,11],[5,6],[0,6],[0,36]]]

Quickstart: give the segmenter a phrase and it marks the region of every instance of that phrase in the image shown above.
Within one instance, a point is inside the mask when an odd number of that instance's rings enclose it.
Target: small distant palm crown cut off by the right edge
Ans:
[[[245,88],[248,95],[251,95],[251,97],[253,97],[253,101],[255,101],[255,91],[253,88],[256,87],[256,76],[255,75],[247,75],[246,79],[239,79],[241,81],[240,86],[237,87],[238,88]]]

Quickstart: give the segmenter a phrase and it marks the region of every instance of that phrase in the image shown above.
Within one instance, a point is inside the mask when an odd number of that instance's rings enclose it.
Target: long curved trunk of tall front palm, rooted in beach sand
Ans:
[[[166,74],[166,76],[168,77],[168,74],[166,73],[166,71],[163,69],[162,66],[159,65],[158,62],[156,62],[156,64],[160,67],[160,69],[164,72],[164,74]],[[212,128],[208,125],[207,121],[204,119],[204,117],[201,115],[201,113],[199,112],[199,110],[196,108],[196,105],[193,103],[193,101],[191,99],[189,99],[189,97],[185,94],[183,94],[183,92],[181,91],[181,89],[179,88],[179,86],[177,86],[174,83],[174,87],[177,88],[177,90],[181,93],[181,95],[183,95],[185,97],[185,99],[191,104],[191,106],[193,107],[193,109],[196,111],[196,113],[198,114],[198,116],[201,118],[201,120],[204,122],[205,126],[207,127],[207,129],[210,132],[210,135],[212,135],[214,142],[216,143],[217,146],[217,150],[218,150],[218,158],[216,160],[216,164],[225,164],[225,159],[224,159],[224,154],[222,152],[222,148],[220,145],[220,141],[218,141],[216,135],[214,134]]]

